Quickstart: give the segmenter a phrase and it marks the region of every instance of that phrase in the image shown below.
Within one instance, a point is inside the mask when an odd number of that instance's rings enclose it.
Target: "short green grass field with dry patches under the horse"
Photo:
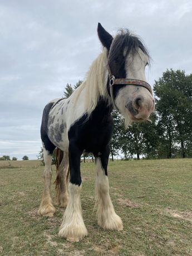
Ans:
[[[95,166],[82,164],[88,236],[79,243],[57,236],[63,209],[56,206],[53,218],[36,214],[43,190],[40,161],[2,162],[1,255],[192,255],[192,159],[109,163],[111,198],[124,222],[121,232],[97,225],[92,213]],[[53,186],[52,195],[55,200]]]

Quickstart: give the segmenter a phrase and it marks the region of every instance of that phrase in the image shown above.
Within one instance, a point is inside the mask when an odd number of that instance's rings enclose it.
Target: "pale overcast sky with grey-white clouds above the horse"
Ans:
[[[37,159],[43,108],[102,51],[98,22],[142,38],[151,86],[167,68],[192,73],[191,0],[1,0],[0,157]]]

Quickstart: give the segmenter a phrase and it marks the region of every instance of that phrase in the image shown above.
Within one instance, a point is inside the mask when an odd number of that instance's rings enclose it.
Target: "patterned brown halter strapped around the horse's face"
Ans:
[[[142,80],[137,80],[137,79],[115,78],[115,76],[112,75],[111,68],[109,65],[107,65],[107,70],[109,72],[110,95],[111,95],[112,105],[114,106],[114,109],[117,109],[114,101],[114,88],[113,88],[114,85],[142,86],[142,87],[145,87],[152,95],[152,89],[149,83]]]

